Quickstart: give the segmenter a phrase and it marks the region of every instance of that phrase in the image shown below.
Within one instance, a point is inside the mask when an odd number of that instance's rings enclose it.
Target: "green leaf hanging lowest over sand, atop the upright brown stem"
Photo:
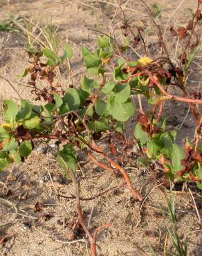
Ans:
[[[63,146],[63,149],[57,154],[57,162],[66,171],[70,167],[74,172],[77,169],[77,154],[72,144]]]

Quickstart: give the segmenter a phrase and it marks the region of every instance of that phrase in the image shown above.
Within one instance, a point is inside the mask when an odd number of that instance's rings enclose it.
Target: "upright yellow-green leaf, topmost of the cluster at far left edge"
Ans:
[[[11,127],[15,127],[15,118],[18,113],[18,106],[13,100],[3,100],[6,105],[6,111],[4,112],[4,118],[7,122],[10,122]]]

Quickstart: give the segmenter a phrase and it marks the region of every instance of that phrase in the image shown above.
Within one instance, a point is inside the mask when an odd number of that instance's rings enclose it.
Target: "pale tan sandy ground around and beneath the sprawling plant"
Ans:
[[[169,30],[183,26],[191,17],[196,1],[156,0],[147,1],[149,5],[157,3],[162,10],[157,21],[163,29]],[[146,42],[149,44],[151,55],[158,56],[156,50],[156,33],[144,8],[139,1],[125,1],[125,12],[131,24],[147,26]],[[124,4],[124,3],[123,3]],[[118,42],[123,42],[122,16],[117,8],[117,2],[104,3],[102,9],[113,20]],[[46,24],[52,19],[53,24],[60,24],[58,35],[61,47],[66,38],[73,47],[75,53],[71,62],[72,78],[69,77],[65,67],[60,70],[59,82],[68,88],[69,84],[79,84],[84,75],[83,60],[81,54],[82,44],[89,48],[95,48],[96,33],[88,28],[96,29],[99,22],[100,30],[108,33],[109,24],[106,17],[93,1],[1,1],[0,20],[6,19],[8,12],[13,17],[18,15],[33,18],[38,24]],[[116,14],[116,15],[115,15]],[[98,17],[96,19],[95,17]],[[98,22],[97,22],[98,21]],[[168,22],[168,26],[167,26]],[[165,41],[172,51],[173,60],[176,60],[175,50],[178,49],[176,39],[165,35]],[[19,79],[28,66],[28,56],[24,51],[26,37],[22,33],[8,33],[0,31],[0,75],[10,80],[18,93],[10,87],[6,80],[0,78],[0,102],[5,98],[14,98],[19,101],[22,98],[34,100],[31,90],[16,84],[13,81],[26,84],[26,79]],[[136,53],[128,51],[131,59],[143,54],[143,49],[138,46]],[[189,80],[190,91],[193,88],[201,89],[201,53],[196,57],[192,65],[192,73]],[[18,95],[19,94],[19,95]],[[2,104],[1,104],[2,107]],[[0,111],[2,110],[0,107]],[[171,125],[182,122],[187,113],[187,106],[172,102],[167,106],[167,115]],[[176,116],[174,116],[176,114]],[[178,136],[178,142],[182,142],[185,136],[194,133],[191,115],[188,115],[183,129]],[[53,155],[43,152],[43,147],[37,147],[28,157],[25,163],[13,165],[0,174],[0,241],[6,237],[6,243],[0,242],[0,255],[15,256],[49,256],[49,255],[73,255],[82,256],[89,254],[87,239],[77,224],[75,201],[62,199],[57,193],[71,196],[73,185],[66,181],[62,170],[55,163]],[[131,156],[129,163],[125,164],[127,172],[135,188],[143,196],[147,196],[140,211],[140,203],[131,197],[131,194],[123,187],[121,177],[114,178],[109,172],[103,172],[95,165],[90,165],[85,156],[80,156],[80,170],[77,174],[86,177],[81,180],[83,197],[91,197],[109,188],[116,187],[107,194],[91,201],[82,202],[84,217],[89,230],[93,231],[100,225],[111,223],[109,230],[100,232],[98,236],[98,255],[102,256],[138,256],[152,255],[152,246],[156,255],[174,255],[173,246],[167,239],[167,227],[170,223],[163,215],[167,210],[165,196],[157,186],[155,187],[152,175],[138,166]],[[50,181],[50,176],[53,183]],[[195,203],[202,212],[201,192],[194,185],[190,186]],[[189,255],[202,255],[201,224],[194,207],[192,196],[188,189],[184,192],[181,185],[174,191],[176,198],[176,218],[179,232],[185,238],[189,232]],[[42,203],[42,210],[35,212],[35,204]],[[73,227],[74,230],[73,230]],[[164,254],[166,243],[167,253]],[[154,254],[153,254],[154,255]]]

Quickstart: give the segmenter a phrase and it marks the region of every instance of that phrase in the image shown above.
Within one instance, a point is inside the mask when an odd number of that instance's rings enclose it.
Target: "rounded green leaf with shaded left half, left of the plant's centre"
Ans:
[[[66,90],[63,102],[68,104],[69,110],[77,110],[80,107],[80,94],[77,89],[69,88]]]

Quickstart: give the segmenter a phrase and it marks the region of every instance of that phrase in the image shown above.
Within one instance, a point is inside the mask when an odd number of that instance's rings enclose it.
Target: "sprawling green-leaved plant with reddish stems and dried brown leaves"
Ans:
[[[201,2],[199,6],[200,4]],[[199,6],[194,19],[190,21],[190,35],[193,35],[194,28],[202,18],[201,12],[199,15]],[[149,13],[152,15],[150,9]],[[36,105],[29,100],[21,100],[19,107],[12,100],[3,101],[6,122],[0,126],[0,169],[5,169],[12,162],[24,161],[34,148],[34,140],[44,140],[46,143],[51,139],[56,140],[59,144],[56,159],[64,169],[66,177],[73,180],[79,221],[91,241],[92,255],[96,255],[95,241],[100,228],[91,235],[82,214],[80,185],[75,176],[79,150],[104,170],[115,172],[115,167],[125,179],[126,187],[139,201],[143,201],[143,196],[134,190],[127,172],[119,164],[122,158],[127,157],[127,150],[133,146],[138,149],[138,161],[149,167],[158,162],[163,167],[165,181],[195,181],[198,188],[202,187],[202,149],[199,145],[202,117],[197,107],[202,104],[202,100],[199,93],[194,97],[187,93],[184,80],[185,65],[188,63],[186,56],[192,37],[187,38],[179,66],[174,66],[163,42],[161,30],[159,26],[157,28],[165,57],[156,60],[142,57],[128,61],[122,56],[116,60],[115,66],[111,62],[112,58],[117,53],[122,55],[125,48],[119,47],[111,35],[100,36],[99,47],[95,51],[90,51],[86,46],[82,47],[88,73],[84,75],[81,86],[68,88],[66,91],[55,84],[54,78],[59,64],[73,57],[71,46],[66,44],[64,54],[58,55],[54,40],[49,40],[52,43],[48,46],[39,44],[37,51],[28,51],[30,66],[25,69],[22,77],[30,75],[28,84],[33,87],[36,100],[43,99],[46,103]],[[29,32],[28,35],[36,39],[33,33]],[[142,40],[145,45],[143,38]],[[46,62],[42,62],[42,57],[46,57]],[[106,74],[109,68],[113,71],[111,76]],[[46,82],[43,88],[38,86],[38,80]],[[179,87],[184,96],[169,94],[169,86]],[[140,104],[134,138],[127,138],[127,121],[136,114],[133,98],[138,96],[140,100],[140,95],[145,96],[151,108],[146,113]],[[196,119],[194,140],[187,140],[184,149],[175,143],[176,131],[166,130],[166,120],[162,118],[166,100],[190,104]],[[110,143],[110,152],[104,151],[98,142],[104,136]],[[99,154],[99,159],[95,153]]]

